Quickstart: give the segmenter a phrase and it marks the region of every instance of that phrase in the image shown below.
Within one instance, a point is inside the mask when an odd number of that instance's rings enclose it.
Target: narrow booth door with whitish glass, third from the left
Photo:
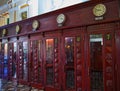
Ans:
[[[27,84],[28,81],[28,42],[18,42],[18,79],[19,83]]]

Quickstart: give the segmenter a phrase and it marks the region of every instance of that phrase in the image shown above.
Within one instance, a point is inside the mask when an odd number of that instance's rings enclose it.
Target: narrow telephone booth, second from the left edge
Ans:
[[[8,42],[8,78],[9,80],[17,80],[17,38],[10,38]]]

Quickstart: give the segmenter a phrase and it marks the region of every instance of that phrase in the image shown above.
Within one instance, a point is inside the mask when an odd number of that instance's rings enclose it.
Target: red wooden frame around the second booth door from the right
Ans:
[[[85,84],[86,84],[86,82],[85,82],[85,69],[86,69],[86,62],[85,62],[85,30],[86,30],[86,28],[85,27],[78,27],[78,28],[72,28],[72,29],[65,29],[65,30],[63,30],[63,33],[62,33],[62,36],[61,36],[61,38],[62,38],[62,46],[61,46],[61,49],[62,49],[62,52],[65,52],[65,50],[64,50],[64,43],[65,43],[65,37],[80,37],[81,39],[80,39],[80,41],[81,41],[81,43],[80,44],[82,44],[81,45],[81,52],[82,52],[82,57],[81,57],[81,61],[82,61],[82,72],[81,72],[81,74],[82,74],[82,83],[81,83],[81,88],[79,89],[79,88],[77,88],[77,58],[75,58],[74,59],[74,70],[75,70],[75,74],[74,74],[74,76],[75,76],[75,88],[74,89],[67,89],[66,88],[66,86],[65,86],[65,72],[64,72],[64,65],[63,65],[63,63],[65,64],[65,56],[64,56],[64,54],[62,54],[62,68],[63,68],[63,70],[62,70],[62,74],[64,74],[64,77],[63,77],[63,83],[64,83],[64,85],[63,85],[63,89],[64,90],[70,90],[70,91],[79,91],[79,90],[86,90],[86,87],[85,87]],[[76,47],[76,39],[75,39],[75,43],[74,43],[74,46],[75,46],[75,48],[74,48],[74,51],[75,51],[75,53],[74,53],[74,57],[75,57],[75,55],[76,55],[76,49],[77,49],[77,47]],[[61,84],[63,84],[63,83],[61,83]]]

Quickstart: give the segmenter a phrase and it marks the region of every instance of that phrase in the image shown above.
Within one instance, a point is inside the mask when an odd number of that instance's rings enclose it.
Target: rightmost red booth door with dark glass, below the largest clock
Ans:
[[[89,91],[115,91],[113,33],[90,33],[89,48]]]

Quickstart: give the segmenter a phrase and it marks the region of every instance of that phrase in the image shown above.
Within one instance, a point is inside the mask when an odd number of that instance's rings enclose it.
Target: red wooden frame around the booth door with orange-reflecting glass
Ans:
[[[61,43],[60,43],[60,36],[61,36],[61,33],[60,33],[60,31],[54,31],[54,32],[45,32],[44,33],[44,36],[43,36],[43,49],[44,49],[44,51],[43,51],[43,53],[44,53],[44,63],[43,63],[43,71],[44,71],[44,86],[45,86],[45,90],[49,90],[49,91],[60,91],[60,89],[61,89],[61,86],[60,86],[60,83],[61,83],[61,80],[60,80],[60,78],[61,78],[61,70],[60,70],[60,68],[61,68],[61,57],[60,57],[60,45],[61,45]],[[54,39],[54,38],[57,38],[58,39],[58,78],[57,78],[57,80],[58,80],[58,85],[55,85],[55,79],[54,79],[54,83],[53,83],[53,85],[47,85],[46,84],[46,39]],[[53,72],[54,72],[54,67],[55,67],[55,63],[54,63],[54,61],[53,61]],[[54,74],[55,75],[55,74]]]

